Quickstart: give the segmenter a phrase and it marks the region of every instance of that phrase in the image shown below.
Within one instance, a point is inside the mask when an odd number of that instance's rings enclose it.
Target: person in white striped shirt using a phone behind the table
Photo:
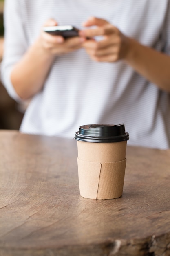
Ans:
[[[170,148],[170,0],[6,0],[4,21],[2,81],[31,99],[21,132],[124,123],[129,145]],[[78,35],[43,30],[58,25]]]

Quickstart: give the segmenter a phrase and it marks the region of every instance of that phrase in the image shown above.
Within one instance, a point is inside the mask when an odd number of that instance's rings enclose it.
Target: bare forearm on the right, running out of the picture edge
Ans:
[[[170,56],[128,38],[124,60],[161,90],[170,92]]]

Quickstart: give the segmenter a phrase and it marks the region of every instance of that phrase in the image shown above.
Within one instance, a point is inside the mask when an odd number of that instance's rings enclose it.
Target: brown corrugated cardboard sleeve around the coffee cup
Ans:
[[[77,157],[79,190],[84,198],[113,199],[121,197],[126,159],[118,162],[88,162]]]

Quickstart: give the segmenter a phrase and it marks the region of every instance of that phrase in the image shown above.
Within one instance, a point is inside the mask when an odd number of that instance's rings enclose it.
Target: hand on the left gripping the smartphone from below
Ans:
[[[53,19],[49,19],[45,22],[44,26],[57,26],[57,22]],[[64,39],[62,36],[51,35],[49,33],[41,31],[39,42],[45,52],[53,56],[59,56],[69,52],[73,52],[82,47],[82,43],[86,39],[84,37],[76,36],[68,39]]]

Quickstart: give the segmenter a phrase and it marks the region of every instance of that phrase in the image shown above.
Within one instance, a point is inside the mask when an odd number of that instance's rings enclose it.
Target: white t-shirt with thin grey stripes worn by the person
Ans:
[[[90,16],[108,20],[141,44],[170,54],[169,0],[6,0],[2,81],[49,18],[81,28]],[[170,97],[124,61],[97,63],[84,49],[56,57],[21,132],[73,138],[84,124],[125,124],[129,145],[170,148]]]

